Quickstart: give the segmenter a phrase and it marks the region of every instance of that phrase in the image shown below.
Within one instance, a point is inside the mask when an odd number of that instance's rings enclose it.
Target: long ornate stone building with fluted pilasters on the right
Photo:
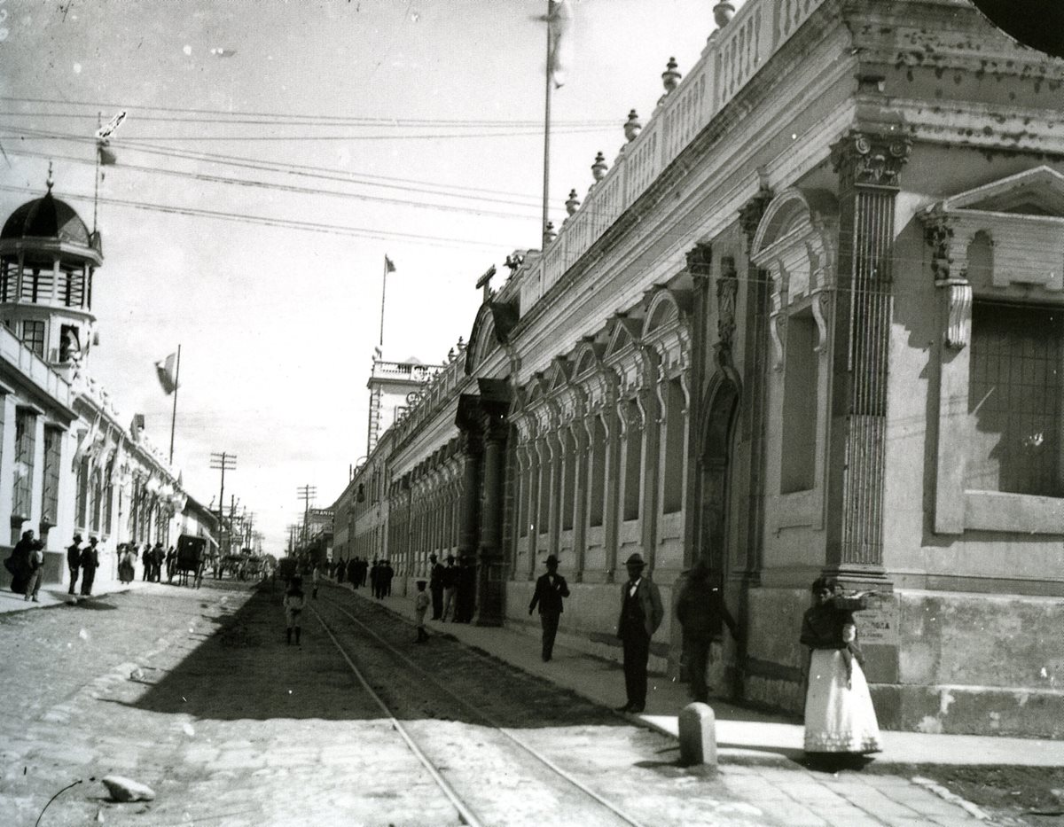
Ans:
[[[884,595],[886,726],[1060,736],[1064,63],[966,0],[714,14],[352,486],[401,575],[477,555],[480,623],[556,554],[564,638],[617,657],[624,559],[670,604],[704,558],[745,630],[713,682],[799,712],[827,573]]]

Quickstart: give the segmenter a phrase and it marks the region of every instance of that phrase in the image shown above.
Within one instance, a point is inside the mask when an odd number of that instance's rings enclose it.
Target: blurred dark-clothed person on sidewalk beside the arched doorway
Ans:
[[[738,640],[738,625],[728,611],[705,560],[700,559],[686,573],[676,601],[676,617],[683,629],[682,651],[691,676],[691,698],[706,704],[710,687],[705,670],[721,655],[721,629],[727,625],[732,638]]]

